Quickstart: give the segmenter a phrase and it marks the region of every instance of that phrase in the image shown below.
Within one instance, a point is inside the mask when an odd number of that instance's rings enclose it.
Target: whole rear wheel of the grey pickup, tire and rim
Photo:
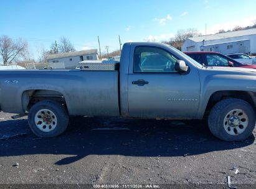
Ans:
[[[29,110],[29,127],[38,137],[55,137],[62,134],[69,124],[64,106],[52,100],[34,104]]]

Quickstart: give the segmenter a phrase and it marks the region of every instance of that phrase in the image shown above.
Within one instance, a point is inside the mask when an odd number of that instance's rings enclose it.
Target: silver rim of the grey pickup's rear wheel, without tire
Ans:
[[[50,109],[40,109],[36,113],[35,123],[40,131],[50,132],[57,126],[57,118]]]

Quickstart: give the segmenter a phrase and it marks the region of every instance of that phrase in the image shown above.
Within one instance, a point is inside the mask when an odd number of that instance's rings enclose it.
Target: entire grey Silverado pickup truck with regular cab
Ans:
[[[255,127],[256,73],[205,67],[169,45],[126,43],[116,70],[0,71],[0,109],[28,114],[39,137],[65,131],[69,116],[202,119],[224,141]],[[16,116],[16,117],[19,117]]]

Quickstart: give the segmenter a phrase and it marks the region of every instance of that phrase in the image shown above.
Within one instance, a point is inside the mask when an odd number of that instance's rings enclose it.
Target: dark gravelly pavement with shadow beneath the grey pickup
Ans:
[[[223,142],[202,121],[88,117],[42,139],[10,116],[0,113],[0,183],[256,184],[255,130]]]

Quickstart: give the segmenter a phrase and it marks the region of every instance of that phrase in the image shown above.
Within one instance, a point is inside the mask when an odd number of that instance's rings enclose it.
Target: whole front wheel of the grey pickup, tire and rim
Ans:
[[[255,112],[242,99],[224,99],[212,109],[208,118],[212,134],[224,141],[243,141],[255,127]]]

